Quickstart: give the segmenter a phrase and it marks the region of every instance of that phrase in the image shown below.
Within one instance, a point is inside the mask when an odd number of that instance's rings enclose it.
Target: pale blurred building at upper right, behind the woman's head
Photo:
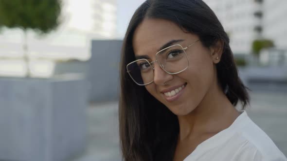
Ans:
[[[229,34],[234,53],[250,53],[254,39],[287,48],[286,0],[204,0]]]

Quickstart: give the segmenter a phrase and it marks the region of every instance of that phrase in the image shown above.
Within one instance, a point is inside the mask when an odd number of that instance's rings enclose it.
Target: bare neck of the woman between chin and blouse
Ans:
[[[179,140],[218,133],[228,128],[239,115],[216,81],[211,88],[194,111],[178,116]]]

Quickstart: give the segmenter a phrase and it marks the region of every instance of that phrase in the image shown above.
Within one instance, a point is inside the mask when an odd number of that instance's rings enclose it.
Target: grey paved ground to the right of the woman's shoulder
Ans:
[[[247,112],[287,156],[287,93],[252,94]]]

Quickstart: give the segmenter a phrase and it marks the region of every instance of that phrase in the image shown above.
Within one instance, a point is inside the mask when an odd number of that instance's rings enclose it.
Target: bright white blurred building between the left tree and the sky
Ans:
[[[116,36],[116,0],[63,0],[71,28],[103,38]],[[98,37],[95,37],[98,38]]]

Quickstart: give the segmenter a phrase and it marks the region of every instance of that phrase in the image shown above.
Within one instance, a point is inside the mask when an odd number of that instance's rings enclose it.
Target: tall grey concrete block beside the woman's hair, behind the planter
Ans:
[[[93,40],[89,61],[90,101],[118,99],[122,40]]]

